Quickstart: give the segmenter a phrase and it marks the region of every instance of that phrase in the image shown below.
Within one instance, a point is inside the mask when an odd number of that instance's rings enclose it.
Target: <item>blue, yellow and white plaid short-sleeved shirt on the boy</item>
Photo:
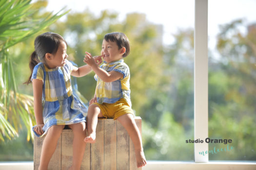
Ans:
[[[103,70],[110,72],[115,71],[123,75],[122,78],[113,82],[104,82],[97,75],[94,78],[97,81],[96,96],[97,102],[102,103],[115,103],[120,98],[124,98],[130,107],[132,107],[130,99],[130,70],[127,64],[123,62],[123,59],[107,63],[100,66]]]

